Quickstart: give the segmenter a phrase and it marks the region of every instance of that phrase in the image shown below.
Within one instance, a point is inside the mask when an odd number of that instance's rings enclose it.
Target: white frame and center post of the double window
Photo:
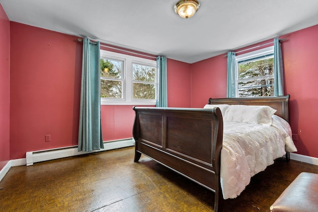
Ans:
[[[156,105],[159,74],[157,69],[157,62],[155,60],[139,58],[131,55],[125,55],[106,50],[100,50],[100,58],[113,59],[117,61],[122,61],[124,63],[122,79],[119,79],[123,81],[123,97],[100,98],[101,105]],[[133,63],[154,67],[156,69],[156,99],[133,99]]]

